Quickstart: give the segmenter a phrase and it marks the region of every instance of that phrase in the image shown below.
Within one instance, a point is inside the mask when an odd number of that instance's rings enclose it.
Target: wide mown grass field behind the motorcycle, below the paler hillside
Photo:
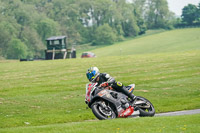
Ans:
[[[200,51],[95,59],[0,63],[0,127],[94,119],[84,103],[85,71],[98,66],[135,95],[148,98],[156,112],[200,108]],[[29,126],[28,125],[28,126]]]

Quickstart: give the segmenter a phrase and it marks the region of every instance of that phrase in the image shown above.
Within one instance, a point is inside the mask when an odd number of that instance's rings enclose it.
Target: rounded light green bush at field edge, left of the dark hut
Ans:
[[[27,57],[27,47],[19,39],[12,39],[7,50],[8,59],[20,59]]]

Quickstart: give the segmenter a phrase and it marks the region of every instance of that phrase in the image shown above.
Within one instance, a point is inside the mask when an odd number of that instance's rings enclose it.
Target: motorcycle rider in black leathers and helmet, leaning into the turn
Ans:
[[[122,92],[123,94],[128,96],[131,100],[135,99],[135,96],[131,92],[129,92],[122,83],[116,82],[115,79],[107,73],[100,73],[97,67],[90,67],[86,72],[86,76],[90,82],[98,83],[97,86],[111,86],[116,91]]]

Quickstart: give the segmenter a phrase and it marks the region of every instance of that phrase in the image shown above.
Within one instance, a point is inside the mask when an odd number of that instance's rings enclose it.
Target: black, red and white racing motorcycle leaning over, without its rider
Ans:
[[[135,84],[126,86],[126,89],[132,93]],[[155,114],[153,104],[146,98],[136,96],[134,100],[130,100],[125,94],[111,87],[99,87],[97,83],[86,85],[85,103],[99,120]]]

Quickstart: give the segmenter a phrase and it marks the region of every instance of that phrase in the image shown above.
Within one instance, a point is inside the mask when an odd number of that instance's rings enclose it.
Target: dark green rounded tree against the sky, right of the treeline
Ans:
[[[182,10],[182,20],[191,25],[197,19],[198,8],[193,4],[188,4]]]

